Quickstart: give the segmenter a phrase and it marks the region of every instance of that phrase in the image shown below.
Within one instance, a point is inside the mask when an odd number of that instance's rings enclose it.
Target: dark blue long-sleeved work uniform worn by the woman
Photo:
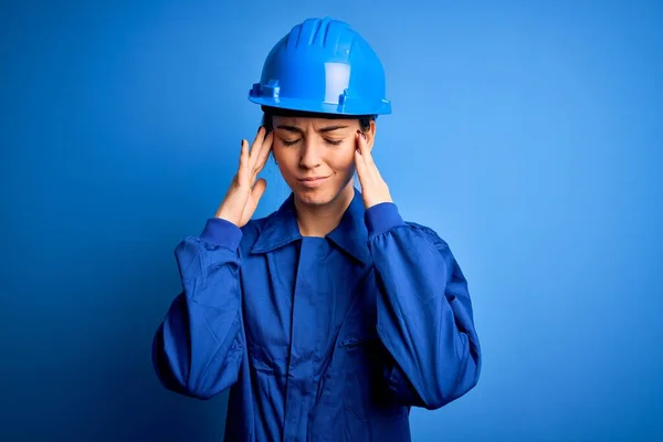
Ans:
[[[294,197],[242,229],[207,221],[176,248],[182,293],[154,340],[169,390],[230,388],[227,441],[410,441],[481,371],[467,282],[446,242],[359,190],[325,238]]]

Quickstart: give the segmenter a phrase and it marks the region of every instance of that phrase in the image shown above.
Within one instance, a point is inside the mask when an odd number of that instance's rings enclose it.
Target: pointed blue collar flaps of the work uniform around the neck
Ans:
[[[291,193],[281,208],[266,219],[257,241],[251,249],[251,253],[267,253],[302,239],[297,225],[294,199],[294,194]],[[365,209],[361,192],[355,189],[350,206],[345,211],[336,229],[329,232],[326,238],[355,260],[368,265],[370,254],[368,251],[368,231],[364,217]]]

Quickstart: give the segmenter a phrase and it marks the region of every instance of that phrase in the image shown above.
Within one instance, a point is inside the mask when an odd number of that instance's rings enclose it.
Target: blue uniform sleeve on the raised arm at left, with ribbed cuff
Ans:
[[[210,399],[238,379],[243,356],[240,257],[242,231],[210,219],[175,255],[182,292],[152,341],[152,364],[169,390]]]

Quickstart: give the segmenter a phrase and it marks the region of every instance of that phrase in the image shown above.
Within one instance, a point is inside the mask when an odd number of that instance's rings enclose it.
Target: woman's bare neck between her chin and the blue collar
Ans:
[[[323,238],[336,229],[354,197],[355,188],[350,181],[334,200],[323,206],[305,204],[295,198],[297,224],[302,236]]]

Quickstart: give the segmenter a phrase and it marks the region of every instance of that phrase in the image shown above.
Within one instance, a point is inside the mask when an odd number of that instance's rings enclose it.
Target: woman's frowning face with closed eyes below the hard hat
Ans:
[[[334,201],[355,173],[357,119],[272,118],[273,152],[283,178],[305,204]],[[372,144],[375,123],[366,133]]]

